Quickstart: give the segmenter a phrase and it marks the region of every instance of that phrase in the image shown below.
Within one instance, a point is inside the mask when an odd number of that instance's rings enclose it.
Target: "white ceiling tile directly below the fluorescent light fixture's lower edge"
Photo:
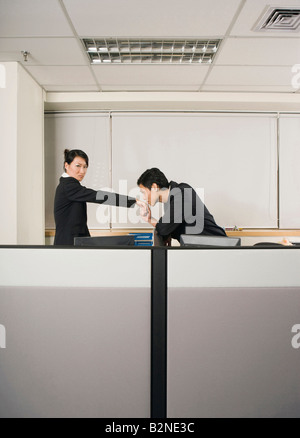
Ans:
[[[209,67],[204,65],[99,65],[92,67],[104,85],[200,85]]]

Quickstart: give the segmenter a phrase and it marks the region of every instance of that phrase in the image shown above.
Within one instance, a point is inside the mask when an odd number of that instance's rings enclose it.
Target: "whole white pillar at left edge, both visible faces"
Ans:
[[[43,90],[18,63],[0,72],[0,244],[43,244]]]

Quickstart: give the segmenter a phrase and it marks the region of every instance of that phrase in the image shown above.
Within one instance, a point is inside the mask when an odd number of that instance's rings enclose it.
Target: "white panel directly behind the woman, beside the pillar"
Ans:
[[[45,226],[55,228],[55,190],[64,172],[64,149],[81,149],[89,157],[82,185],[94,190],[111,187],[110,118],[108,113],[45,115]],[[109,207],[87,204],[88,227],[108,228]]]

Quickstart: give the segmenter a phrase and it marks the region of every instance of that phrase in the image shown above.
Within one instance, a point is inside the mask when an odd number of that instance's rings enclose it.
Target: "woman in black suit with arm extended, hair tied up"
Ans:
[[[135,198],[82,186],[80,183],[89,166],[87,154],[80,149],[65,149],[64,156],[65,172],[59,180],[54,200],[54,245],[74,245],[74,237],[90,236],[87,202],[128,208],[136,203]]]

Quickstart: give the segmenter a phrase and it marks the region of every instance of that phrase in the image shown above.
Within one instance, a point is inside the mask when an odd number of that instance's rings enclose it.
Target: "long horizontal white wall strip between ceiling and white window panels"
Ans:
[[[48,92],[45,109],[125,111],[296,111],[300,93]]]

